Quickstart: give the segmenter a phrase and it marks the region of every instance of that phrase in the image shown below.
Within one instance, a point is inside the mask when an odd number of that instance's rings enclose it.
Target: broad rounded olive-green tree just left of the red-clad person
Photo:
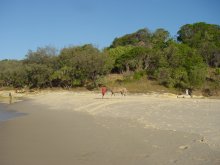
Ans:
[[[108,55],[90,44],[64,48],[59,59],[61,68],[70,68],[69,77],[73,85],[74,82],[77,85],[86,85],[88,81],[92,81],[96,86],[97,78],[112,69]]]

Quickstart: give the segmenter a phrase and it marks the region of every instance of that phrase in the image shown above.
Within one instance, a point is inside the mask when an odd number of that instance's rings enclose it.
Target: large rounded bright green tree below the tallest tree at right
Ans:
[[[195,49],[170,42],[158,56],[154,75],[160,84],[175,88],[197,88],[204,84],[206,65]]]

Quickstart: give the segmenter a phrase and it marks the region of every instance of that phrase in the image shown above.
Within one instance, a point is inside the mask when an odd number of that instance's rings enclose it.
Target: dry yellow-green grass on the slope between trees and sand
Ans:
[[[173,94],[183,94],[184,90],[176,88],[167,88],[165,86],[159,85],[158,81],[149,80],[146,76],[140,79],[134,79],[133,74],[109,74],[102,77],[100,80],[102,84],[107,87],[125,87],[130,93],[173,93]],[[211,76],[210,76],[211,77]],[[207,95],[205,90],[210,90],[210,94]],[[194,89],[193,95],[207,96],[207,97],[217,97],[219,98],[220,89],[215,83],[206,81],[206,83],[200,89]]]

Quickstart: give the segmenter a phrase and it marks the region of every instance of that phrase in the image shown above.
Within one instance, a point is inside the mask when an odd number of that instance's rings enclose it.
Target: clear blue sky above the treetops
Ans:
[[[0,60],[83,44],[102,49],[141,28],[171,37],[185,24],[220,25],[219,0],[0,0]]]

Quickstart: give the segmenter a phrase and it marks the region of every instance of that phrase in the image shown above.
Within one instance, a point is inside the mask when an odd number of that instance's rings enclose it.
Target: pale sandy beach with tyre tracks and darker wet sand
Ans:
[[[48,91],[7,106],[1,165],[219,165],[220,100]]]

